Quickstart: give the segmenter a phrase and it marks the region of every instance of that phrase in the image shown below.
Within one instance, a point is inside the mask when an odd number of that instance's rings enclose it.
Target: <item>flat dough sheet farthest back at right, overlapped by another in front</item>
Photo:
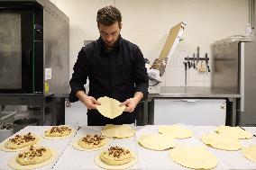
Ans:
[[[242,130],[240,127],[230,127],[221,125],[215,130],[219,134],[232,136],[236,139],[251,139],[252,134],[249,131]]]

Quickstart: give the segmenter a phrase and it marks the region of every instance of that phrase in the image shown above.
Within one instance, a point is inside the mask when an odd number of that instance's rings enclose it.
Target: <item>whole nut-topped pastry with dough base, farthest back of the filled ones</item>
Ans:
[[[67,139],[74,134],[75,130],[69,126],[53,126],[46,130],[42,137],[44,139]]]

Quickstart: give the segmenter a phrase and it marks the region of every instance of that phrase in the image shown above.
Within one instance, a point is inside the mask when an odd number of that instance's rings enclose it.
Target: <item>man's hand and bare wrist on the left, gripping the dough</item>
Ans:
[[[94,97],[88,96],[83,91],[78,91],[77,97],[87,106],[88,110],[96,109],[96,105],[100,105],[100,103]]]

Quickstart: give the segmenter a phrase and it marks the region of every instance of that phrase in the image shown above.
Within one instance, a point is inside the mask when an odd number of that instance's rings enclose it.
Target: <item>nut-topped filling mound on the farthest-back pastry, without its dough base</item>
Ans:
[[[67,126],[55,126],[50,130],[45,131],[46,137],[63,137],[67,136],[72,132],[72,130]]]

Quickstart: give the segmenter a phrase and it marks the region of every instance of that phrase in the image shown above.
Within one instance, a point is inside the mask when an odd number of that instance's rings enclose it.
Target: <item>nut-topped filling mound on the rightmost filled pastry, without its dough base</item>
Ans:
[[[121,166],[129,163],[133,158],[132,153],[126,148],[111,147],[100,154],[100,159],[110,166]]]

